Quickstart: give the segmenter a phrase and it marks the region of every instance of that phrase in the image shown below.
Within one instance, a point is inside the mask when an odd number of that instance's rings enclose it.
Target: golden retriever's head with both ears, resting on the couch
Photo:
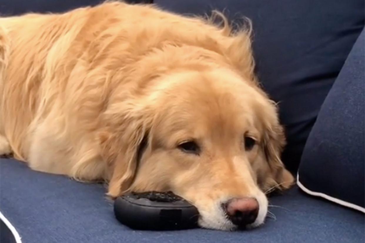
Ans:
[[[293,177],[280,160],[276,107],[257,86],[225,69],[179,72],[134,96],[104,114],[110,196],[171,190],[197,207],[202,227],[264,222],[265,192]]]

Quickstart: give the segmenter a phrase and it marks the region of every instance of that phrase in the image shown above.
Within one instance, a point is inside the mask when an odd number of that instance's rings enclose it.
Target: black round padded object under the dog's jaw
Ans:
[[[114,202],[122,224],[135,230],[183,230],[197,227],[196,207],[172,192],[129,193]]]

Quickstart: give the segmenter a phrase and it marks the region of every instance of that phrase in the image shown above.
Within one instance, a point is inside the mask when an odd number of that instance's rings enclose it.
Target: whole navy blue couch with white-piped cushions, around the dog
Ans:
[[[63,12],[100,0],[3,0],[0,15]],[[135,0],[134,2],[141,2]],[[145,1],[150,2],[150,1]],[[264,226],[240,232],[134,231],[105,185],[0,160],[1,242],[364,242],[364,1],[155,0],[181,14],[253,21],[256,73],[279,102],[286,166],[298,186],[270,197]],[[20,239],[21,238],[21,239]]]

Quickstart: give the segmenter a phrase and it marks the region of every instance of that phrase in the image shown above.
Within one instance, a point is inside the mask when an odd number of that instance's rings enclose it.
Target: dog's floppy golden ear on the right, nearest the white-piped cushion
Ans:
[[[266,178],[265,190],[271,191],[274,188],[288,189],[293,184],[294,177],[285,169],[280,159],[281,152],[286,144],[284,129],[279,124],[276,115],[269,116],[266,122],[263,147],[270,172]]]

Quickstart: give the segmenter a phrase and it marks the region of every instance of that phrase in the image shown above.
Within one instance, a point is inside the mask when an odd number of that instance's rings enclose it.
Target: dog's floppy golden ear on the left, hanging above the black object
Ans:
[[[103,121],[104,130],[99,133],[101,156],[110,175],[108,196],[115,198],[128,192],[134,180],[150,122],[143,111],[135,109],[107,111]]]

